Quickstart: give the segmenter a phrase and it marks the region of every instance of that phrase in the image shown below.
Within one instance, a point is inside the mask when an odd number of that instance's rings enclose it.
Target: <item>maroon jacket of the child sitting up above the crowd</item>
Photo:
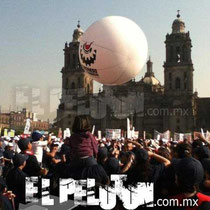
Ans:
[[[96,157],[98,146],[95,137],[90,132],[75,133],[69,139],[70,159],[80,157]]]

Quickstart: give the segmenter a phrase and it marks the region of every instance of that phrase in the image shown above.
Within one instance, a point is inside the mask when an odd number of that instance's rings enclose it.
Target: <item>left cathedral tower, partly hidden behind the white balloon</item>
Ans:
[[[65,43],[62,73],[62,95],[57,110],[57,126],[71,128],[77,113],[78,96],[89,97],[93,93],[93,80],[85,74],[79,62],[79,43],[83,35],[78,21],[72,42]]]

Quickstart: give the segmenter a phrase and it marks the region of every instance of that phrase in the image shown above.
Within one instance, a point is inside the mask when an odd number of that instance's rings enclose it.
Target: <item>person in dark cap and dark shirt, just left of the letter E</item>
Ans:
[[[19,203],[25,203],[25,177],[27,174],[23,172],[26,166],[28,155],[16,154],[13,157],[14,168],[9,171],[6,177],[8,189],[15,195],[15,209],[19,209]]]

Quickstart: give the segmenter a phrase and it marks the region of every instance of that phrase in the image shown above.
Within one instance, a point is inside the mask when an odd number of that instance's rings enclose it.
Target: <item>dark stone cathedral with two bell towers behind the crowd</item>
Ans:
[[[210,98],[199,98],[193,91],[192,43],[179,14],[173,21],[172,32],[166,35],[164,85],[155,77],[149,58],[147,71],[140,81],[104,85],[103,90],[93,93],[93,80],[84,73],[78,59],[82,34],[78,24],[72,42],[65,44],[58,127],[71,128],[76,115],[87,114],[96,130],[103,132],[106,128],[126,130],[127,118],[140,133],[210,129]]]

